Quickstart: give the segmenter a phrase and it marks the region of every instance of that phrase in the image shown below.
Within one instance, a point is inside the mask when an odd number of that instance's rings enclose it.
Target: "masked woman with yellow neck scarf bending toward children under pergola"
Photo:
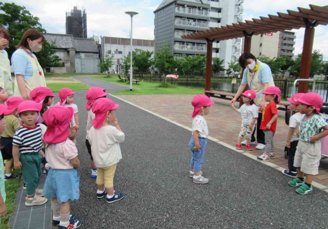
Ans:
[[[263,92],[265,89],[267,89],[267,87],[275,86],[275,83],[273,81],[269,65],[256,60],[256,57],[252,53],[245,52],[241,54],[239,57],[239,65],[242,68],[245,68],[245,71],[239,89],[233,100],[231,100],[231,103],[233,104],[236,102],[237,98],[244,91],[247,84],[249,89],[252,89],[256,92],[256,98],[254,99],[255,105],[258,107],[258,118],[256,126],[256,138],[258,144],[256,149],[263,150],[265,148],[264,132],[259,129],[261,126],[262,110],[267,104],[267,102],[265,102],[265,95]],[[251,145],[255,144],[254,134],[255,129],[252,135]],[[246,145],[246,141],[242,142],[242,144]]]

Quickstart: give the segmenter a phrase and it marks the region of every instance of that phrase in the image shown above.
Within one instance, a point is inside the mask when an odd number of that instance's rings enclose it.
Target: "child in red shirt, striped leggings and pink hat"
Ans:
[[[278,110],[277,104],[280,103],[281,91],[278,87],[268,87],[263,94],[265,95],[265,101],[269,102],[263,109],[262,121],[260,129],[264,132],[265,138],[265,152],[257,157],[259,161],[270,161],[271,158],[275,158],[275,149],[273,146],[273,136],[276,132]]]

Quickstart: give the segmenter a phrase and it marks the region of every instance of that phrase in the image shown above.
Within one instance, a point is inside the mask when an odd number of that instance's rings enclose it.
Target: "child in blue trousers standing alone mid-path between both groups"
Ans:
[[[194,112],[191,115],[193,118],[193,132],[189,142],[189,148],[192,152],[189,176],[193,178],[194,183],[207,184],[208,179],[202,176],[203,172],[201,171],[208,136],[207,122],[204,116],[208,115],[214,102],[205,95],[197,95],[193,98],[191,104],[194,107]]]

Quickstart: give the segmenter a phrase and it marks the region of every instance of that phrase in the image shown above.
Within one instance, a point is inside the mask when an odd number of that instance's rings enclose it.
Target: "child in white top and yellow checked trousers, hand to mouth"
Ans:
[[[115,115],[118,107],[119,105],[109,98],[98,98],[94,101],[92,112],[95,117],[89,131],[92,157],[98,171],[96,195],[97,198],[103,198],[107,193],[107,203],[119,201],[124,197],[123,192],[114,191],[113,184],[117,163],[122,159],[119,143],[125,139]]]

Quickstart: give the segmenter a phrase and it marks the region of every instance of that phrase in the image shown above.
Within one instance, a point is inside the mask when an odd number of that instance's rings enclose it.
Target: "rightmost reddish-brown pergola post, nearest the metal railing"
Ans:
[[[315,26],[317,21],[310,23],[308,19],[304,19],[306,28],[304,33],[301,68],[299,71],[299,79],[309,79],[311,62],[312,62],[312,49],[314,41]],[[298,93],[307,93],[308,91],[308,81],[300,81],[298,83]]]

